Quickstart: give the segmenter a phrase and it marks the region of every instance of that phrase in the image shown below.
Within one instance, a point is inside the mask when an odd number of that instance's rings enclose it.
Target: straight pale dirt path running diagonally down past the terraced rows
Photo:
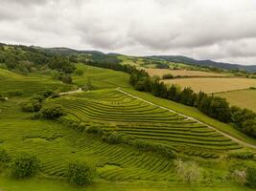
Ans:
[[[159,107],[159,108],[161,108],[161,109],[167,110],[167,111],[169,111],[169,112],[175,113],[175,114],[177,114],[177,115],[179,115],[179,116],[181,116],[181,117],[186,117],[187,119],[197,121],[198,123],[200,123],[200,124],[202,124],[202,125],[205,125],[205,126],[209,127],[210,129],[214,129],[215,131],[219,132],[221,135],[225,136],[226,138],[230,138],[230,139],[234,140],[235,142],[237,142],[237,143],[239,143],[239,144],[241,144],[241,145],[244,145],[244,146],[246,146],[246,147],[250,147],[250,148],[256,149],[256,145],[253,145],[253,144],[244,142],[244,141],[241,140],[241,139],[234,138],[234,137],[232,137],[232,136],[230,136],[230,135],[228,135],[228,134],[225,134],[225,133],[221,132],[219,129],[216,129],[216,128],[213,127],[213,126],[210,126],[210,125],[208,125],[208,124],[206,124],[206,123],[204,123],[204,122],[199,121],[197,118],[189,117],[189,116],[186,116],[186,115],[177,113],[177,112],[175,112],[174,110],[171,110],[171,109],[168,109],[168,108],[166,108],[166,107],[163,107],[163,106],[154,104],[154,103],[152,103],[151,101],[147,101],[147,100],[145,100],[145,99],[143,99],[143,98],[140,98],[140,97],[138,97],[138,96],[130,95],[129,93],[127,93],[127,92],[121,90],[120,88],[117,88],[116,90],[119,91],[119,92],[121,92],[121,93],[123,93],[123,94],[125,94],[125,95],[131,96],[131,97],[133,97],[133,98],[136,98],[136,99],[139,99],[139,100],[144,101],[144,102],[146,102],[146,103],[149,103],[149,104],[151,104],[151,105],[153,105],[153,106],[156,106],[156,107]]]

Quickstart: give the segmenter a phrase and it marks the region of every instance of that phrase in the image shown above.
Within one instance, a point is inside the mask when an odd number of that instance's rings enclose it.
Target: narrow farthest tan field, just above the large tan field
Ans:
[[[157,75],[162,77],[163,74],[173,74],[174,76],[228,76],[227,74],[207,73],[202,71],[188,71],[188,70],[169,70],[169,69],[145,69],[151,76]],[[230,74],[231,75],[231,74]]]

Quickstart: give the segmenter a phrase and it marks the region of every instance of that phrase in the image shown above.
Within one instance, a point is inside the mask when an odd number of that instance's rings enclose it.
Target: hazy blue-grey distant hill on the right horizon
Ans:
[[[163,59],[171,62],[184,63],[189,65],[197,65],[197,66],[206,66],[206,67],[214,67],[221,68],[226,70],[245,70],[247,72],[255,73],[256,65],[239,65],[239,64],[229,64],[223,62],[215,62],[212,60],[196,60],[190,57],[182,56],[182,55],[152,55],[148,56],[151,58]]]

